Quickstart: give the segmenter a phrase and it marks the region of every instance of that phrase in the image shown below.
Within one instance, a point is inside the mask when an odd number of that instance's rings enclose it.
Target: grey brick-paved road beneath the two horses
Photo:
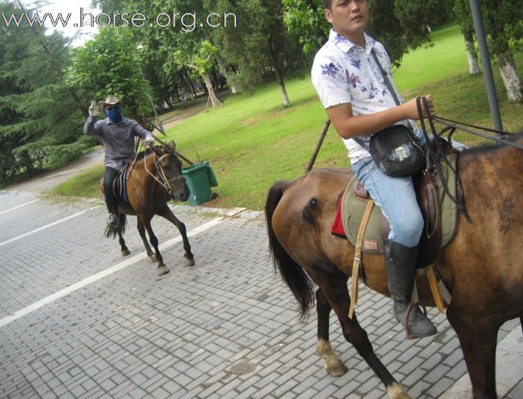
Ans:
[[[135,258],[122,258],[117,241],[102,237],[106,211],[98,202],[38,200],[7,211],[36,199],[0,191],[0,325],[9,321],[0,327],[0,397],[385,396],[334,315],[332,345],[349,371],[327,375],[315,353],[316,316],[299,321],[268,258],[260,214],[222,217],[176,206],[189,231],[222,219],[191,237],[193,268],[183,266],[176,242],[163,250],[171,273],[157,277],[156,266],[141,256],[134,218],[125,237]],[[54,224],[70,215],[76,216]],[[153,219],[153,228],[160,243],[178,237],[163,219]],[[74,288],[114,266],[122,268]],[[71,286],[55,301],[6,319]],[[361,289],[359,320],[389,371],[415,398],[451,396],[447,389],[466,368],[445,317],[430,311],[436,338],[404,341],[389,300]],[[506,323],[499,338],[518,331],[521,336],[516,321]],[[511,365],[519,382],[506,387],[506,398],[523,397],[521,363],[520,356]]]

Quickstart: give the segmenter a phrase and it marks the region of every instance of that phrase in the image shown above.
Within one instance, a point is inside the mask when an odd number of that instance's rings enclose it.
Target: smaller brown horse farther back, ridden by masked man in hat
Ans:
[[[129,171],[128,171],[129,173]],[[186,201],[189,198],[189,188],[185,184],[182,174],[182,161],[178,159],[174,142],[164,147],[150,146],[145,152],[139,153],[134,166],[130,171],[127,184],[127,203],[118,205],[118,228],[107,228],[107,237],[116,237],[120,240],[122,256],[129,255],[122,234],[127,223],[126,215],[136,215],[138,219],[138,233],[142,237],[147,256],[152,261],[158,261],[158,275],[169,272],[158,250],[158,239],[151,228],[151,219],[160,215],[174,224],[182,235],[184,244],[184,261],[186,266],[194,265],[194,256],[187,239],[185,225],[175,217],[167,202],[169,200]],[[103,191],[103,180],[100,182]],[[154,253],[145,237],[145,230],[149,233],[149,240]]]

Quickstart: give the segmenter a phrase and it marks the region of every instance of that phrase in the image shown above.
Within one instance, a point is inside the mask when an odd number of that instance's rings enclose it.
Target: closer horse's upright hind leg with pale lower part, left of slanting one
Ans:
[[[316,291],[316,311],[318,314],[318,343],[316,344],[316,350],[323,358],[328,374],[332,377],[339,377],[343,376],[348,369],[330,346],[329,317],[331,310],[332,306],[318,288]]]

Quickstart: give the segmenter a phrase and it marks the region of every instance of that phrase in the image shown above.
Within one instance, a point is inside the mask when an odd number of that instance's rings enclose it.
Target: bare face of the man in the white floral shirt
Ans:
[[[325,18],[343,36],[363,34],[369,21],[369,5],[367,0],[332,0]]]

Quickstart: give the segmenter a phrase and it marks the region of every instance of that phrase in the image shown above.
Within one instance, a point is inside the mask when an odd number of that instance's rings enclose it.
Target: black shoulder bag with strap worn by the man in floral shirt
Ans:
[[[379,62],[374,49],[372,49],[372,55],[396,104],[401,105],[387,72]],[[405,125],[392,125],[372,134],[368,146],[361,138],[354,138],[354,140],[369,151],[380,171],[386,175],[392,177],[412,176],[425,168],[425,155],[418,144],[418,138],[416,138],[412,129]]]

